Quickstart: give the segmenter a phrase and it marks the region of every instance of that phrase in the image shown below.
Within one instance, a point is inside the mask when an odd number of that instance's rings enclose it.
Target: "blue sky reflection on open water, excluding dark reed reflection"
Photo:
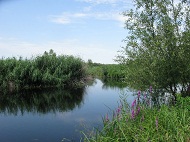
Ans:
[[[102,124],[102,117],[118,106],[120,89],[102,88],[96,80],[84,95],[83,104],[68,112],[20,113],[17,116],[0,114],[0,139],[3,142],[59,142],[63,138],[79,141],[82,129],[92,130],[92,126]],[[125,93],[127,92],[124,89]],[[130,93],[131,94],[131,93]],[[130,95],[129,94],[129,95]],[[128,102],[133,100],[127,97]]]

